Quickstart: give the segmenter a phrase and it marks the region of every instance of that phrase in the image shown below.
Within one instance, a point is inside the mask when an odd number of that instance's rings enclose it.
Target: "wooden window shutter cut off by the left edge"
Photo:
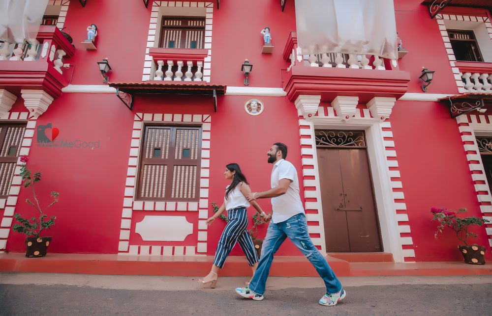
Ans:
[[[17,159],[21,151],[21,142],[26,132],[26,124],[0,125],[0,196],[8,196],[14,177]]]

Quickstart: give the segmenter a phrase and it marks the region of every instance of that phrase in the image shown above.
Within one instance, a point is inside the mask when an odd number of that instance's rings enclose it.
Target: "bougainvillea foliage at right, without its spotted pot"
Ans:
[[[463,218],[457,216],[465,211],[466,209],[460,209],[456,212],[445,208],[431,208],[431,213],[433,216],[432,220],[439,221],[434,237],[437,238],[437,234],[442,233],[445,227],[449,227],[456,233],[456,237],[468,246],[467,238],[470,236],[477,237],[476,234],[468,232],[468,227],[470,225],[482,226],[487,224],[489,221],[475,216]]]

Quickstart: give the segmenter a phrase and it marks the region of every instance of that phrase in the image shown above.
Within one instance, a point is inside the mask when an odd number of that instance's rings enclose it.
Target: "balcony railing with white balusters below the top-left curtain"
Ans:
[[[32,44],[1,43],[0,61],[47,62],[60,74],[63,58],[71,57],[75,48],[56,26],[40,26]]]

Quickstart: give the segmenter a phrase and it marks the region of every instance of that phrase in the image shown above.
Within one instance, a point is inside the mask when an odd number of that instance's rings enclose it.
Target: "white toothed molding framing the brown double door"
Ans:
[[[364,130],[367,136],[370,171],[383,250],[392,253],[395,262],[415,261],[390,122],[382,122],[379,118],[373,118],[367,108],[355,108],[349,122],[339,117],[334,107],[330,106],[320,106],[316,115],[311,116],[309,120],[304,118],[300,109],[298,114],[303,155],[312,154],[311,158],[302,159],[302,165],[303,176],[314,176],[314,180],[304,180],[305,197],[316,200],[306,202],[305,206],[307,220],[316,223],[308,225],[309,234],[320,234],[319,238],[312,238],[314,245],[326,253],[315,129]]]

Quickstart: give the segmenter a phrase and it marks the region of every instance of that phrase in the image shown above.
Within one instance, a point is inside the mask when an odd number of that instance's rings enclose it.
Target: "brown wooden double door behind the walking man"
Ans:
[[[327,252],[382,251],[365,148],[317,148]]]

